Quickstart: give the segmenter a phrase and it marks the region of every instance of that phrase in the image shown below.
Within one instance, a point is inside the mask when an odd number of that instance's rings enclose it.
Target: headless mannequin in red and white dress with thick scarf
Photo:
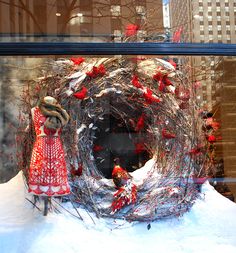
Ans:
[[[31,112],[36,141],[30,161],[29,192],[35,197],[44,196],[44,215],[47,215],[48,201],[52,196],[70,193],[60,140],[61,128],[68,123],[69,115],[50,96],[42,98]]]

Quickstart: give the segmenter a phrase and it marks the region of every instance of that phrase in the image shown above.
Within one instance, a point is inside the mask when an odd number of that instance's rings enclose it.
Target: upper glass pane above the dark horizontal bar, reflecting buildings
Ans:
[[[5,0],[1,41],[235,43],[235,1]]]

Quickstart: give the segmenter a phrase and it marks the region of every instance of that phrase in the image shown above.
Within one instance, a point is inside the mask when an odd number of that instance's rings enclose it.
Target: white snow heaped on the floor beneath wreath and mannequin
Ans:
[[[63,209],[44,217],[25,200],[19,173],[0,184],[0,253],[236,253],[236,204],[208,183],[203,192],[189,213],[148,230],[146,223],[93,217],[94,224],[84,210],[84,222]]]

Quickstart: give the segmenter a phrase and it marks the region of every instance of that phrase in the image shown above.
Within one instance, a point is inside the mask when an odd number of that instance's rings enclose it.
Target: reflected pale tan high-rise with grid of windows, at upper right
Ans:
[[[235,43],[236,2],[171,0],[171,28],[173,34],[181,31],[181,42],[196,43]],[[178,35],[178,34],[177,34]],[[214,67],[219,59],[216,57],[192,57],[195,77],[202,83],[202,102],[212,109],[215,103]]]

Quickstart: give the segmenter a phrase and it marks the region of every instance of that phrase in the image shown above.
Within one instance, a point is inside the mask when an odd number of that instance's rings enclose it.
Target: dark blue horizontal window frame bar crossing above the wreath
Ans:
[[[236,44],[156,42],[0,42],[1,56],[38,55],[214,55],[236,56]]]

